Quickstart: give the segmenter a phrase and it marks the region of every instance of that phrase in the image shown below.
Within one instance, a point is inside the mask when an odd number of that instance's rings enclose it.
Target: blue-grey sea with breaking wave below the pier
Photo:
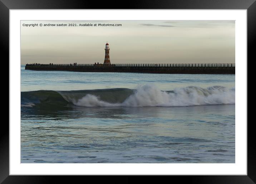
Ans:
[[[21,66],[21,163],[235,163],[235,75]]]

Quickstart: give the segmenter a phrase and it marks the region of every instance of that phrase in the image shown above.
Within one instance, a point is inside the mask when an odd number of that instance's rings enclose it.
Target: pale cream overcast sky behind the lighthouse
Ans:
[[[235,20],[21,21],[21,65],[103,63],[106,42],[113,64],[235,63]]]

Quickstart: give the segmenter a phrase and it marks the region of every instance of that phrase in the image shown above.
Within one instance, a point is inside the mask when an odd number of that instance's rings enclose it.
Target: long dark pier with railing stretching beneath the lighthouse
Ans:
[[[235,74],[235,64],[27,64],[25,70],[173,74]]]

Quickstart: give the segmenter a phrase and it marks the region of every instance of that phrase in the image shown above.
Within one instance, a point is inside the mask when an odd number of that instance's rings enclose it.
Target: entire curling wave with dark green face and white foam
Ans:
[[[22,107],[172,107],[235,104],[235,88],[188,86],[161,91],[155,85],[77,91],[21,92]]]

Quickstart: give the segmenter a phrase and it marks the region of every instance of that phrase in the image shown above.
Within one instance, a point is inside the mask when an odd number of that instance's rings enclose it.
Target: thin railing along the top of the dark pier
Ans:
[[[43,66],[43,67],[235,67],[235,64],[217,64],[217,63],[208,63],[208,64],[112,64],[112,65],[103,65],[103,64],[26,64],[26,66]]]

